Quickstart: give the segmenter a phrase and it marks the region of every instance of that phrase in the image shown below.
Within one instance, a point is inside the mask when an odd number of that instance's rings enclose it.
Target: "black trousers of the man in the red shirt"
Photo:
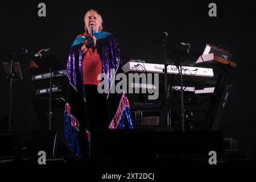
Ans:
[[[108,104],[105,93],[98,93],[97,85],[84,85],[90,129],[108,129]]]

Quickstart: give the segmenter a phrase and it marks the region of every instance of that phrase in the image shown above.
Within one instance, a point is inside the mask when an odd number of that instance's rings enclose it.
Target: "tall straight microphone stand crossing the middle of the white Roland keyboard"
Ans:
[[[164,49],[164,100],[166,102],[165,105],[165,119],[166,119],[166,131],[168,131],[168,124],[170,124],[171,129],[174,129],[174,127],[172,126],[172,120],[171,120],[171,110],[170,113],[168,113],[168,98],[167,98],[167,92],[168,92],[168,79],[167,79],[167,60],[166,60],[166,37],[167,37],[167,33],[164,32],[163,34],[164,38],[163,38],[163,49]],[[170,122],[168,122],[170,121]]]

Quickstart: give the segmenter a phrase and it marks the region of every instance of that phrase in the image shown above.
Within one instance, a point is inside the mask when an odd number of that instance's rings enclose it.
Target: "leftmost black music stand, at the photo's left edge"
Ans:
[[[11,104],[13,96],[13,81],[23,81],[22,73],[20,72],[19,63],[13,63],[13,55],[11,55],[10,63],[3,63],[7,81],[10,83],[9,87],[9,123],[8,130],[11,131]]]

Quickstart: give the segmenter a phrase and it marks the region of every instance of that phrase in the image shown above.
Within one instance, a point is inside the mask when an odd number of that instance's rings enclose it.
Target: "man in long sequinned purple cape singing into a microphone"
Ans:
[[[108,90],[122,71],[119,48],[113,34],[102,31],[102,18],[96,10],[84,16],[85,32],[76,37],[67,61],[70,83],[65,105],[65,138],[74,154],[86,153],[90,129],[133,129],[129,101],[125,93],[98,93],[105,73]],[[112,69],[114,75],[112,75]]]

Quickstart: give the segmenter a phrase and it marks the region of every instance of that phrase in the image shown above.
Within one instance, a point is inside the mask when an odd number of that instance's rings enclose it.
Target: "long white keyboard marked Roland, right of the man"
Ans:
[[[137,63],[127,62],[123,65],[123,71],[127,72],[145,72],[145,73],[164,73],[164,64],[151,64],[151,63]],[[179,67],[180,69],[180,67]],[[168,74],[179,74],[179,70],[175,65],[168,65]],[[182,75],[188,76],[200,76],[200,77],[213,77],[212,68],[200,68],[200,67],[182,67]]]

